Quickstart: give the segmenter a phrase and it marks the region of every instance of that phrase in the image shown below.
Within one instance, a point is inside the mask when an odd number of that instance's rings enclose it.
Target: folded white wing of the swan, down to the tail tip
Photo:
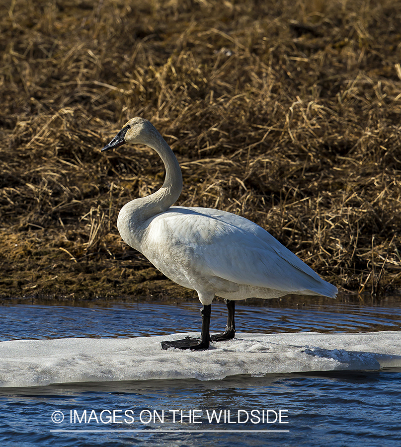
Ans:
[[[263,228],[240,216],[207,208],[173,207],[157,221],[158,231],[163,227],[169,250],[179,245],[181,256],[187,257],[182,261],[193,264],[205,279],[218,277],[288,293],[311,290],[335,295],[334,286]],[[163,238],[161,234],[158,237]],[[327,290],[327,286],[331,289]]]

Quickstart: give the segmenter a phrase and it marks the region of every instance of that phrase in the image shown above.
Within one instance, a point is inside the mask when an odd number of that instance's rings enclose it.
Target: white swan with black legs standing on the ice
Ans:
[[[335,298],[337,288],[259,225],[225,211],[172,207],[182,191],[178,161],[155,127],[132,118],[103,150],[124,143],[149,146],[166,170],[160,190],[121,209],[117,227],[124,241],[144,254],[165,276],[196,290],[203,304],[200,339],[162,342],[162,348],[207,349],[210,341],[235,335],[235,301],[287,294]],[[226,298],[226,331],[210,337],[213,298]]]

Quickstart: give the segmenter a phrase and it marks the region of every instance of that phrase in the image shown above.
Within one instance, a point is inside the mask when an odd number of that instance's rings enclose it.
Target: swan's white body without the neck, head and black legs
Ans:
[[[204,305],[215,296],[333,297],[337,292],[266,230],[224,211],[171,207],[138,225],[129,203],[120,211],[118,230],[165,276],[196,290]]]

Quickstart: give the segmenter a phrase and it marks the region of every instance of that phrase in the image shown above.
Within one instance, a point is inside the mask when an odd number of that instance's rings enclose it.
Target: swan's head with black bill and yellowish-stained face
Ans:
[[[149,146],[149,140],[155,137],[158,131],[150,121],[136,117],[130,119],[120,132],[106,145],[103,150],[118,148],[124,143],[133,143]]]

